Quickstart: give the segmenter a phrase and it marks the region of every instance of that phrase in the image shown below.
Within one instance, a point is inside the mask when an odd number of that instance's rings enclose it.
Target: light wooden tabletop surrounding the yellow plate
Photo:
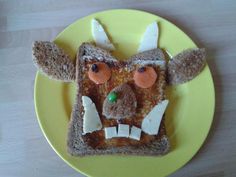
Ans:
[[[83,177],[56,155],[39,128],[31,43],[52,40],[76,19],[111,8],[160,15],[207,48],[216,87],[213,126],[197,155],[171,176],[236,176],[234,0],[0,0],[0,176]]]

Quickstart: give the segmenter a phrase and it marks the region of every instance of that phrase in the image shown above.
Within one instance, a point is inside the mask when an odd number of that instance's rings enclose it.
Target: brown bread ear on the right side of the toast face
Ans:
[[[196,77],[206,63],[205,49],[187,49],[174,56],[167,65],[167,82],[183,84]]]

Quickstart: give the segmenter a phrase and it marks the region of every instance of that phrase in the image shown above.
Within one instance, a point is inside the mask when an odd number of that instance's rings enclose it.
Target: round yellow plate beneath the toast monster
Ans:
[[[92,41],[90,22],[98,19],[115,44],[115,56],[129,57],[137,52],[148,24],[158,21],[159,46],[171,55],[196,47],[179,28],[156,15],[137,10],[109,10],[82,18],[61,32],[55,42],[74,57],[84,41]],[[199,150],[210,129],[214,106],[214,86],[208,66],[194,80],[168,87],[170,105],[166,113],[172,150],[163,157],[104,155],[71,157],[66,152],[67,124],[75,98],[74,83],[60,83],[37,73],[35,109],[49,144],[71,167],[88,176],[137,177],[166,176],[187,163]]]

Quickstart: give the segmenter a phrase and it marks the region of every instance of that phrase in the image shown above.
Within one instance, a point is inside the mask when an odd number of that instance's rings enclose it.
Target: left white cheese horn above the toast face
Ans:
[[[92,19],[92,35],[97,46],[106,50],[115,49],[102,25],[95,19]]]

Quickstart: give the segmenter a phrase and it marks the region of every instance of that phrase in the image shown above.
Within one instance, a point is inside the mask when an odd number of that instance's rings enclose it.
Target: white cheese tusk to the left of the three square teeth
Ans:
[[[87,96],[82,96],[82,105],[84,107],[83,134],[101,130],[102,122],[93,101]]]

